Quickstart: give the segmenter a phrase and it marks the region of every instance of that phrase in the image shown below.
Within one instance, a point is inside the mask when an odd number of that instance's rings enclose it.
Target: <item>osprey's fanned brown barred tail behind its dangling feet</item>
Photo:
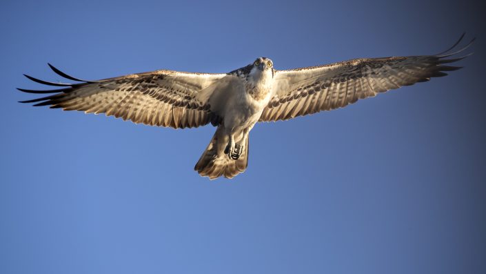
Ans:
[[[210,144],[194,166],[194,170],[199,175],[210,177],[210,179],[216,179],[220,176],[231,179],[246,170],[248,166],[248,135],[246,135],[243,143],[245,144],[243,153],[241,153],[239,159],[234,160],[224,153],[228,138],[223,134],[223,131],[222,126],[219,126]],[[234,141],[238,143],[241,138],[243,138],[243,133],[235,135]]]

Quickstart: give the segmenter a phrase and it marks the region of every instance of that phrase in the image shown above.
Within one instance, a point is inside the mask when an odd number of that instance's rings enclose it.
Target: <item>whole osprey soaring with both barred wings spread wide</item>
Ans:
[[[379,92],[443,77],[445,66],[463,59],[446,59],[468,48],[437,55],[352,59],[324,66],[276,70],[267,57],[228,73],[192,73],[172,70],[136,73],[122,77],[85,81],[71,77],[54,66],[58,75],[78,81],[62,84],[28,77],[54,90],[26,90],[54,93],[21,101],[86,113],[105,113],[134,123],[171,128],[193,128],[211,123],[217,126],[194,169],[215,179],[232,178],[248,164],[248,133],[256,122],[292,119],[321,110],[333,110]]]

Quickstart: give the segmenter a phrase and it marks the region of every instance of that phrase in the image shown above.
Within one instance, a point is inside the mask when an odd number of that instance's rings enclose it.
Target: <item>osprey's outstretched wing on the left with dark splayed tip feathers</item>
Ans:
[[[210,97],[227,84],[226,74],[205,74],[156,70],[99,81],[85,81],[66,75],[54,66],[57,74],[79,84],[61,84],[35,79],[48,86],[63,86],[56,90],[26,90],[29,93],[55,93],[48,97],[21,101],[34,106],[50,106],[63,110],[82,110],[86,113],[105,113],[134,123],[172,128],[203,126],[217,123]]]

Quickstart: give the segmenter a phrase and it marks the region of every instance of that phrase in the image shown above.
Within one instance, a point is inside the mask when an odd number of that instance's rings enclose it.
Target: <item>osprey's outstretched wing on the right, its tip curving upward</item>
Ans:
[[[452,46],[454,48],[464,35]],[[464,57],[445,59],[462,52],[444,55],[353,59],[340,63],[294,70],[277,70],[274,97],[263,110],[259,121],[287,120],[321,110],[333,110],[358,99],[374,97],[401,86],[429,81],[431,77],[447,75],[443,71],[460,67],[445,66]]]

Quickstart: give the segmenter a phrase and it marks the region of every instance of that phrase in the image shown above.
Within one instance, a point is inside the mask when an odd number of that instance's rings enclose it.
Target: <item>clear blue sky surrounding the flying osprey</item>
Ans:
[[[486,273],[484,3],[0,3],[0,273]],[[232,180],[193,171],[212,126],[17,101],[64,81],[441,52],[463,70],[257,124]]]

